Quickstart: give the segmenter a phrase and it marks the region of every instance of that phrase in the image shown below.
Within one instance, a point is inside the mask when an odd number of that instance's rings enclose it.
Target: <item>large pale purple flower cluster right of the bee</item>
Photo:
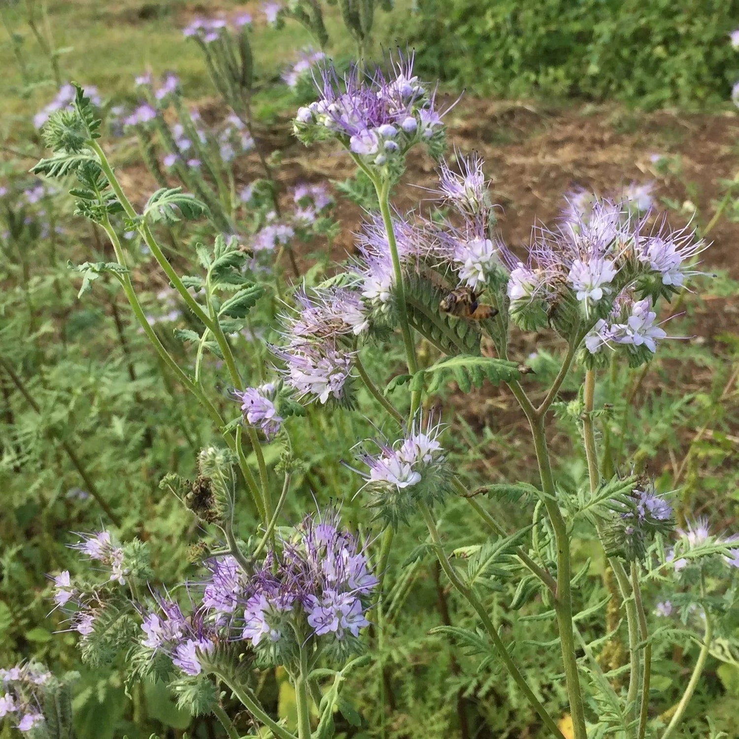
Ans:
[[[647,232],[648,218],[636,217],[624,202],[593,198],[586,212],[573,207],[554,231],[535,229],[528,263],[504,253],[511,315],[525,315],[537,301],[556,306],[566,287],[582,318],[598,321],[588,341],[591,353],[608,343],[653,352],[665,334],[655,326],[652,303],[697,273],[689,262],[705,245],[689,228],[670,231],[664,220]]]

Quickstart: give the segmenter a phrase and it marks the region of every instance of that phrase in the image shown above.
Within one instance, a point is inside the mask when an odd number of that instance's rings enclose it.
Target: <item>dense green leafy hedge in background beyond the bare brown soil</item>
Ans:
[[[729,98],[738,13],[735,0],[421,0],[410,38],[427,77],[477,93],[696,105]]]

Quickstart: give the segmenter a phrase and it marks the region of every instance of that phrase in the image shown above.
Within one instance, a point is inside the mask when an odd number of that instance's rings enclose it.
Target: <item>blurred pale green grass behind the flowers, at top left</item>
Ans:
[[[402,18],[406,3],[392,13],[375,16],[375,38],[386,38]],[[259,4],[219,4],[218,10],[231,14],[249,10],[255,18],[253,52],[259,84],[275,79],[294,58],[296,49],[316,41],[296,21],[286,21],[276,29],[264,23]],[[215,10],[215,9],[214,9]],[[29,24],[30,12],[41,34],[39,42]],[[188,99],[215,95],[202,55],[195,44],[183,38],[182,28],[199,13],[208,13],[207,4],[185,0],[17,0],[0,7],[0,132],[12,141],[30,133],[30,118],[54,97],[56,84],[52,61],[44,46],[56,50],[61,81],[95,85],[105,100],[134,101],[132,81],[143,69],[154,75],[177,72]],[[336,7],[326,9],[330,36],[327,53],[341,58],[353,54],[354,45]],[[268,112],[280,106],[279,99],[265,101]]]

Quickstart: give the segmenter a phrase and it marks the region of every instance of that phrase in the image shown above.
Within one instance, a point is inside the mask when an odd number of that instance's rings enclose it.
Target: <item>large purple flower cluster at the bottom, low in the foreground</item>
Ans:
[[[185,618],[180,606],[159,599],[143,618],[144,647],[164,650],[188,675],[216,641],[250,641],[270,650],[296,638],[357,637],[377,579],[357,539],[338,528],[335,513],[306,517],[261,565],[243,571],[231,556],[211,559],[202,602]],[[300,635],[300,636],[296,636]]]

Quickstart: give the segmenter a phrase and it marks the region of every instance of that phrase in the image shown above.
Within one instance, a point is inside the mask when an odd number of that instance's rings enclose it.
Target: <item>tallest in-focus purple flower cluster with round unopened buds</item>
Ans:
[[[418,142],[440,149],[443,125],[435,92],[413,74],[413,58],[399,57],[391,71],[364,75],[355,65],[339,78],[321,69],[319,100],[298,110],[293,124],[304,143],[337,138],[370,165],[382,166]]]

